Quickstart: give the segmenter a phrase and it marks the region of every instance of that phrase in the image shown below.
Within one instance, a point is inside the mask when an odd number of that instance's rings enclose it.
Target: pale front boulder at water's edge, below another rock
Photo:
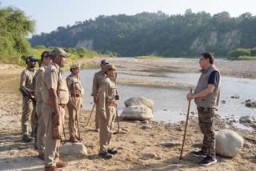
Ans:
[[[120,117],[126,120],[143,121],[152,119],[153,113],[146,105],[131,105],[122,111]]]

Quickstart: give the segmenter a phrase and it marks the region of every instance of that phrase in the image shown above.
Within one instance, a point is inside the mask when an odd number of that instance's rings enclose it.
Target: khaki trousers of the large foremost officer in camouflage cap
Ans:
[[[64,119],[65,110],[61,107],[61,118],[60,118],[60,133],[62,134],[62,121]],[[59,147],[61,144],[60,140],[52,139],[53,127],[53,108],[50,105],[42,104],[42,117],[46,126],[46,149],[45,149],[45,163],[46,166],[56,166],[56,163],[59,161]]]

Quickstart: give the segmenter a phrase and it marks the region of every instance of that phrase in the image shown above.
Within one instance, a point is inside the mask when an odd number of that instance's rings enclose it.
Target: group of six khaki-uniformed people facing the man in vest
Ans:
[[[26,69],[22,71],[20,90],[22,91],[22,140],[33,141],[38,149],[38,157],[45,161],[45,170],[58,170],[65,167],[66,161],[59,158],[59,147],[65,121],[65,106],[69,113],[69,133],[71,143],[81,141],[78,130],[78,114],[82,106],[84,89],[78,77],[80,65],[70,66],[71,74],[65,78],[62,67],[70,56],[61,48],[44,51],[41,66],[35,70],[38,59],[26,58]],[[110,159],[118,153],[110,148],[114,120],[117,112],[118,89],[115,83],[116,67],[105,59],[101,61],[102,70],[94,74],[91,95],[96,104],[95,131],[99,132],[99,155]],[[35,101],[35,102],[34,102]],[[31,120],[32,133],[29,134]],[[65,134],[64,134],[65,135]]]

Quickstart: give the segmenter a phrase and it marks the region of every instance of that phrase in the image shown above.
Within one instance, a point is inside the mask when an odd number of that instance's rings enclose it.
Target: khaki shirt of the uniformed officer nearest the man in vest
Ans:
[[[102,87],[101,94],[98,97],[98,112],[106,113],[106,103],[107,102],[116,102],[118,96],[118,87],[114,81],[114,78],[106,76]]]

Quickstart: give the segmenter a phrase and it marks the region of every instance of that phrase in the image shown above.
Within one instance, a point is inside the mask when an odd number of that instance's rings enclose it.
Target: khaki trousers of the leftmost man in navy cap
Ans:
[[[23,136],[29,135],[28,125],[33,113],[33,102],[27,97],[22,99],[22,134]],[[31,123],[32,126],[32,123]]]

